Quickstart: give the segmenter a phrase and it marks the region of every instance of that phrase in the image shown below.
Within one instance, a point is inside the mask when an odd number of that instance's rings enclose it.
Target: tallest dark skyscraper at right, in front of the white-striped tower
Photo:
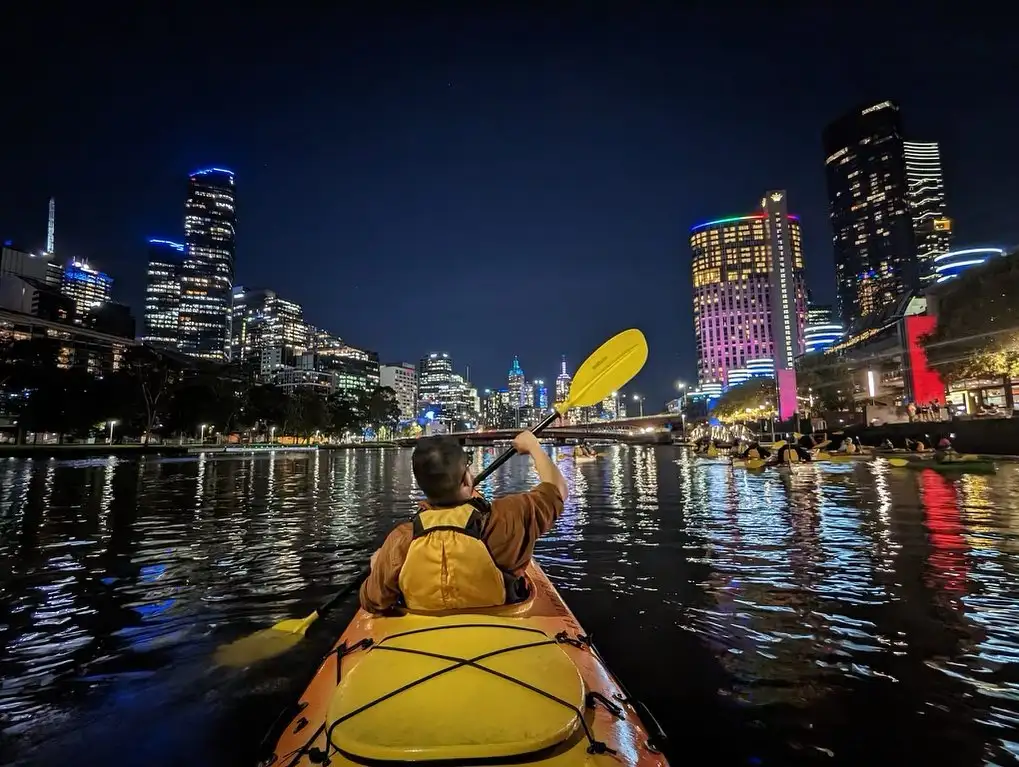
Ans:
[[[919,281],[899,107],[854,109],[823,133],[839,313],[847,329]]]

